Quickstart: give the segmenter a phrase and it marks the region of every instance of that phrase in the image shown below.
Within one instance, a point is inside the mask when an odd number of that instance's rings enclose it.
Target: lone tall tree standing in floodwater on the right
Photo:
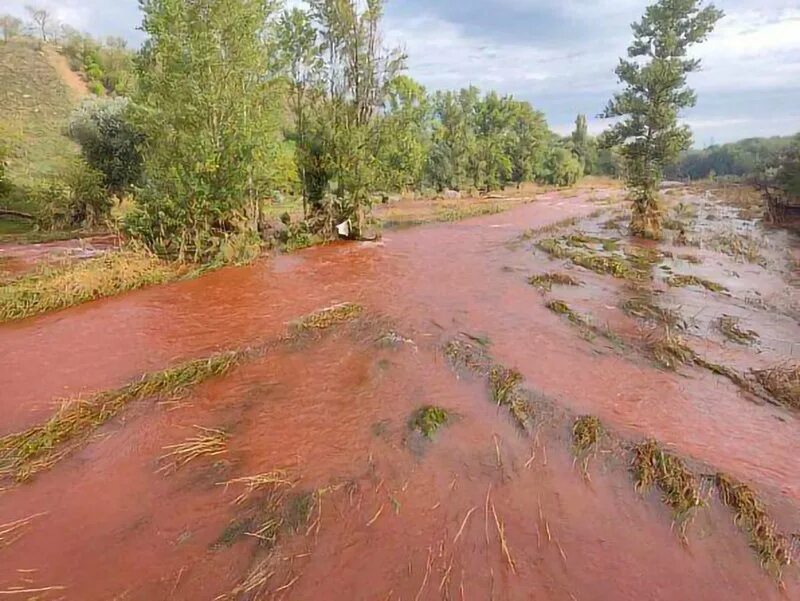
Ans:
[[[700,68],[700,60],[687,53],[723,16],[714,5],[701,5],[702,0],[658,0],[646,9],[632,26],[628,59],[620,59],[616,69],[625,88],[601,114],[621,118],[608,131],[606,142],[619,145],[625,159],[634,235],[660,236],[657,190],[663,169],[691,145],[691,131],[677,122],[679,111],[696,102],[686,77]]]

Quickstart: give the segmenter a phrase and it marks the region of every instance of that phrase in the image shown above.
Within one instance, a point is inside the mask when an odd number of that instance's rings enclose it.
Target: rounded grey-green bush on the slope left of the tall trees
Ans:
[[[144,136],[130,119],[130,101],[84,102],[72,115],[69,134],[87,163],[102,172],[109,190],[119,193],[139,182],[142,157],[137,147]]]

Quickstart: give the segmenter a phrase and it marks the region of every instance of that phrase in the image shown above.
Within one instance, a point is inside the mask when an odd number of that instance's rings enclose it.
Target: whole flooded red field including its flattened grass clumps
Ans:
[[[0,326],[0,595],[800,598],[798,240],[739,204],[655,244],[551,193]]]

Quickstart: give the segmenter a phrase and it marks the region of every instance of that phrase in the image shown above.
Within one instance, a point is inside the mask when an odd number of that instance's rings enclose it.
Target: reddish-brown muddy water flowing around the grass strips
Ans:
[[[54,470],[0,495],[0,523],[44,514],[0,548],[0,591],[55,586],[65,588],[44,598],[214,599],[258,558],[247,538],[214,546],[240,511],[233,504],[240,491],[219,483],[283,468],[298,479],[297,490],[350,485],[325,498],[318,530],[281,542],[268,587],[278,591],[274,598],[800,594],[793,579],[785,593],[777,590],[718,504],[692,524],[684,547],[657,496],[643,502],[624,466],[601,458],[587,484],[567,432],[535,442],[521,435],[487,402],[484,385],[456,379],[437,351],[462,332],[488,337],[495,358],[520,369],[530,388],[748,480],[797,530],[793,416],[745,401],[719,379],[666,374],[582,340],[525,283],[549,264],[507,242],[594,208],[551,198],[3,326],[2,433],[41,421],[60,396],[274,338],[287,321],[334,302],[364,304],[414,344],[379,348],[342,331],[278,349],[200,386],[172,410],[131,407]],[[620,320],[612,309],[618,287],[587,280],[575,294]],[[427,404],[457,416],[430,443],[414,440],[406,425]],[[228,452],[173,475],[156,473],[163,448],[195,426],[229,431]]]

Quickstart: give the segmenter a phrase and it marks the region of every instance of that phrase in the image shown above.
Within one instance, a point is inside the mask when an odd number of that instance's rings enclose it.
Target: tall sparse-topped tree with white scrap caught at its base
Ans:
[[[405,55],[383,45],[383,0],[311,0],[309,5],[322,42],[324,94],[314,105],[299,153],[311,180],[312,227],[330,234],[346,221],[351,235],[358,236],[376,181],[370,142],[389,82],[404,69]]]

